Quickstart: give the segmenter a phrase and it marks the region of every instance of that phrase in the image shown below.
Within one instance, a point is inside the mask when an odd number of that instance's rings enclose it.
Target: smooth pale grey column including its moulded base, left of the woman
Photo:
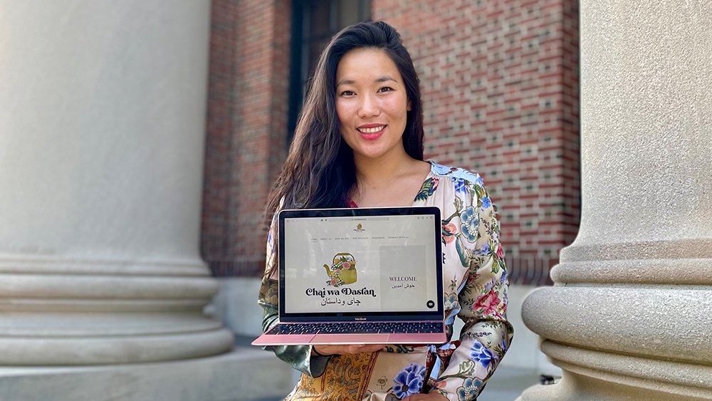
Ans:
[[[0,366],[230,350],[202,314],[210,1],[0,10]]]

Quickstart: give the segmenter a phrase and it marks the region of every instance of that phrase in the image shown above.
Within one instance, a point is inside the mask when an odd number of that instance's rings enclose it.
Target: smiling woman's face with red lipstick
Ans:
[[[346,53],[336,68],[336,113],[354,157],[403,152],[410,102],[397,66],[384,51]]]

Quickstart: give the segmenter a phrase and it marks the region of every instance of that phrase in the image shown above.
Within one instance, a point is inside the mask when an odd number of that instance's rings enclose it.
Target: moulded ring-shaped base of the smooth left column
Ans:
[[[0,366],[110,365],[228,352],[203,314],[218,284],[199,259],[0,253]]]

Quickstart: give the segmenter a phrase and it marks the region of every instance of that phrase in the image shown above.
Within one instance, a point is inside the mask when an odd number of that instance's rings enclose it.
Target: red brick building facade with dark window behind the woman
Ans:
[[[261,276],[265,199],[305,82],[334,33],[369,19],[411,53],[426,158],[483,177],[511,283],[550,283],[580,214],[572,0],[214,0],[201,234],[214,276]]]

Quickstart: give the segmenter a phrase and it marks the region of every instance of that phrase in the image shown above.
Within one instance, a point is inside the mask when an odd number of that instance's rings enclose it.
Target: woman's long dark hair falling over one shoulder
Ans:
[[[268,221],[282,199],[281,209],[347,206],[356,185],[356,167],[336,114],[336,68],[346,53],[357,48],[382,50],[397,66],[411,105],[403,145],[410,157],[423,160],[420,81],[400,35],[382,21],[349,26],[334,36],[319,57],[289,155],[267,199]]]

